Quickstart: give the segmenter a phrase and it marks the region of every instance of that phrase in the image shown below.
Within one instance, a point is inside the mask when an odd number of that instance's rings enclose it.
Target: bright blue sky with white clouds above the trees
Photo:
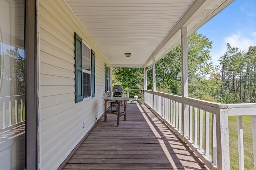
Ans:
[[[256,0],[234,0],[222,12],[197,31],[212,42],[210,55],[214,65],[226,52],[226,44],[247,52],[256,46]]]

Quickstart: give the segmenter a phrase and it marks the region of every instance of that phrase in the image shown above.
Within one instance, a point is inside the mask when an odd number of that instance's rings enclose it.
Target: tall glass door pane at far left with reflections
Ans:
[[[24,170],[24,1],[0,0],[0,16],[0,169]]]

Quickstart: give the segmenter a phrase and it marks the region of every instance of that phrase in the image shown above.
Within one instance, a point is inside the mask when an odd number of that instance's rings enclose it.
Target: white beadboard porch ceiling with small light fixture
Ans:
[[[233,1],[66,0],[112,67],[151,65]]]

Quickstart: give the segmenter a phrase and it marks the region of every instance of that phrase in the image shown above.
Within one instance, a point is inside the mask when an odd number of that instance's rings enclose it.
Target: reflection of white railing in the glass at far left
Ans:
[[[0,97],[0,132],[23,124],[25,95]]]

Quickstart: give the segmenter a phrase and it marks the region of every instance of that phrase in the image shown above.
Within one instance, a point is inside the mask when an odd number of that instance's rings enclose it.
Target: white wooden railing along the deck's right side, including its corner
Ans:
[[[210,169],[230,169],[228,116],[234,115],[238,116],[239,166],[244,169],[242,115],[251,115],[256,170],[256,104],[218,104],[149,90],[144,90],[144,101]],[[182,105],[188,107],[183,113],[188,119],[182,119]]]

